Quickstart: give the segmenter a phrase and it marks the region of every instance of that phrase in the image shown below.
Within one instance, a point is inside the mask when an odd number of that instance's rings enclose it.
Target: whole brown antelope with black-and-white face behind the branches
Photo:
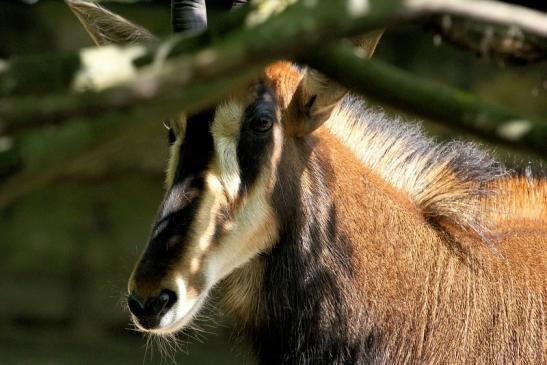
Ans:
[[[98,43],[148,37],[71,4]],[[264,364],[545,364],[545,179],[363,105],[277,62],[173,122],[135,324],[176,332],[220,286]]]

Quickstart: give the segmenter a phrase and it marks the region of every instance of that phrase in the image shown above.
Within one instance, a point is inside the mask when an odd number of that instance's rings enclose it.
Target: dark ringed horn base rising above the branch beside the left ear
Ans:
[[[205,0],[171,0],[173,32],[201,32],[207,29]]]

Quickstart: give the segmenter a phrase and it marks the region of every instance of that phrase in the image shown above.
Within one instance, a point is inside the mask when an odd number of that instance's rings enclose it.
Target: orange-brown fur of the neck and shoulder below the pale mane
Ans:
[[[347,151],[331,151],[346,161],[336,169],[335,199],[355,244],[362,303],[390,333],[388,362],[545,361],[546,226],[526,238],[506,237],[498,255],[481,242],[455,255],[447,236],[406,208],[398,192],[347,163]],[[523,257],[532,262],[523,266]]]

